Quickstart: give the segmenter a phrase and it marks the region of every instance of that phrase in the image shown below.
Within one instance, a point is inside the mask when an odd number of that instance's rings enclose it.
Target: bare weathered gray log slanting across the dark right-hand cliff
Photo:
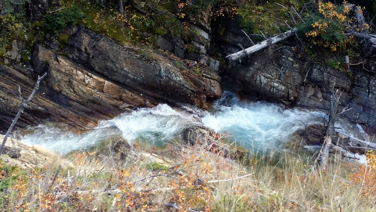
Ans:
[[[278,42],[280,42],[282,40],[286,40],[287,38],[295,35],[296,31],[297,31],[297,28],[290,29],[287,32],[280,33],[280,34],[278,34],[278,35],[276,35],[274,37],[269,38],[268,40],[264,40],[261,43],[253,45],[253,46],[251,46],[249,48],[246,48],[246,49],[244,49],[242,51],[238,51],[236,53],[227,55],[226,58],[229,59],[229,60],[237,60],[239,58],[246,57],[246,56],[248,56],[248,55],[250,55],[252,53],[255,53],[255,52],[257,52],[257,51],[259,51],[261,49],[264,49],[264,48],[266,48],[266,47],[268,47],[270,45],[276,44],[276,43],[278,43]]]

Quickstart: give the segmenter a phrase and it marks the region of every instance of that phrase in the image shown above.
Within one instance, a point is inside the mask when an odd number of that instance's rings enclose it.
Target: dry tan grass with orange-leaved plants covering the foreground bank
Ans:
[[[292,153],[250,157],[242,163],[223,157],[223,151],[208,152],[204,146],[171,147],[166,153],[172,157],[157,157],[142,149],[136,149],[132,158],[124,149],[121,153],[76,154],[69,158],[74,165],[59,172],[58,164],[26,171],[3,163],[0,211],[175,210],[171,206],[179,211],[223,212],[376,208],[374,195],[364,192],[372,182],[349,181],[359,166],[344,164],[340,158],[333,158],[327,172],[312,173],[307,164],[310,158]]]

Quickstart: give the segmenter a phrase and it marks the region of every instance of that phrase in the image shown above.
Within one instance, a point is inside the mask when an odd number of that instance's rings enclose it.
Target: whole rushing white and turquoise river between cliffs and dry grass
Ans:
[[[141,108],[112,120],[103,120],[96,129],[76,134],[54,126],[39,125],[14,135],[29,144],[37,144],[59,154],[85,151],[106,141],[123,137],[132,144],[164,146],[179,139],[179,133],[190,124],[200,124],[226,132],[232,140],[252,151],[276,149],[305,126],[323,123],[326,114],[300,108],[286,109],[265,101],[240,100],[225,91],[209,111],[185,107],[175,110],[167,104]],[[358,132],[358,134],[362,134]]]

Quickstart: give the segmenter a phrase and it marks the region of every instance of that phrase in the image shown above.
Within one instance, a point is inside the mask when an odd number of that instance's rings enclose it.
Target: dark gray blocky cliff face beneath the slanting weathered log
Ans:
[[[252,46],[237,27],[218,37],[225,54],[240,51],[238,43]],[[351,66],[352,77],[347,73],[318,65],[298,57],[291,48],[271,48],[256,52],[241,61],[229,61],[226,75],[238,92],[258,95],[261,99],[278,100],[287,105],[313,109],[329,109],[332,89],[341,93],[340,116],[376,128],[376,77],[375,61]]]

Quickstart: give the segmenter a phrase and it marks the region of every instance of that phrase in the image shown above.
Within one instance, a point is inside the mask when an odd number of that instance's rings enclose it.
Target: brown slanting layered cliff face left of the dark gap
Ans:
[[[189,103],[207,108],[207,97],[221,96],[220,77],[215,72],[182,72],[166,57],[118,45],[83,26],[66,33],[70,41],[64,49],[53,37],[35,46],[29,69],[0,66],[3,133],[18,110],[17,85],[24,95],[30,94],[36,73],[47,72],[47,77],[18,121],[19,128],[44,120],[92,128],[99,119],[139,107]]]

